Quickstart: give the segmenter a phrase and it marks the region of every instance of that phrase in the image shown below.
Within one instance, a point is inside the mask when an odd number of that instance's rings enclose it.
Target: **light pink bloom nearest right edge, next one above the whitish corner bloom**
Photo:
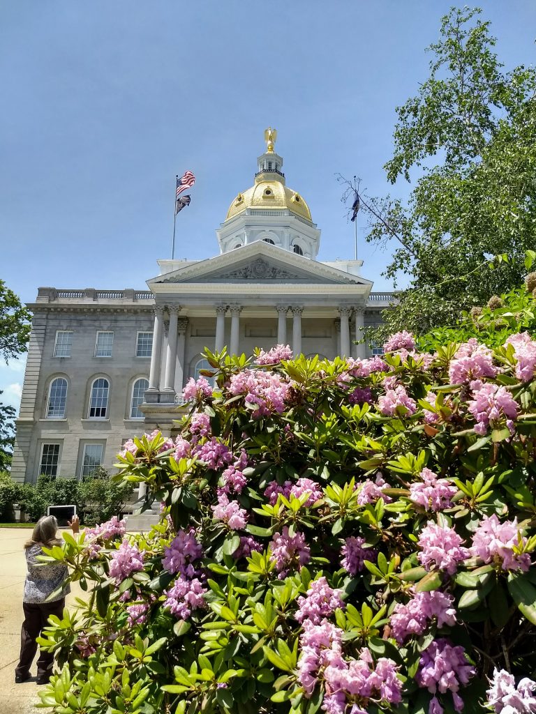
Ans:
[[[520,537],[517,518],[500,523],[495,513],[482,518],[472,537],[471,555],[477,555],[485,563],[500,563],[502,570],[525,570],[530,568],[530,553],[514,553],[514,545],[527,543]]]

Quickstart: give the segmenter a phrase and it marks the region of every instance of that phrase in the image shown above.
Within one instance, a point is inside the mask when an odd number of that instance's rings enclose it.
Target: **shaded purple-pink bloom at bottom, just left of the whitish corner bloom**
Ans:
[[[415,679],[420,687],[426,688],[432,694],[451,692],[454,708],[461,712],[463,700],[457,694],[458,690],[460,685],[465,686],[474,674],[475,669],[467,662],[464,648],[455,647],[448,640],[439,639],[434,640],[422,653]],[[435,699],[437,701],[437,698]],[[435,711],[442,711],[437,709],[437,704],[434,703]],[[434,709],[430,707],[429,711]]]

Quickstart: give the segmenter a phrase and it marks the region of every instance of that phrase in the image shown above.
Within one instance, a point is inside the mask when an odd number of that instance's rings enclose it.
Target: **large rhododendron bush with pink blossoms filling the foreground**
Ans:
[[[385,349],[207,352],[178,435],[119,455],[159,525],[49,551],[87,603],[45,632],[44,705],[536,711],[536,342]]]

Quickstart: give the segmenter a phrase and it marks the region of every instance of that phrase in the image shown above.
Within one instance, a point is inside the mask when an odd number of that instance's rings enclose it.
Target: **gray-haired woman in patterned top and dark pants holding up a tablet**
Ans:
[[[78,533],[79,523],[78,516],[73,516],[69,523],[73,533]],[[37,651],[36,638],[48,625],[50,615],[61,618],[65,595],[71,592],[69,585],[66,585],[54,600],[47,600],[46,598],[59,588],[61,583],[64,583],[67,567],[61,563],[41,563],[37,560],[39,555],[44,555],[43,548],[52,548],[53,545],[61,544],[61,540],[56,535],[57,529],[58,522],[54,516],[43,516],[37,521],[30,540],[24,544],[28,573],[22,598],[24,623],[21,630],[21,656],[15,670],[16,683],[25,682],[30,678],[30,666]],[[38,684],[46,684],[49,681],[53,665],[54,654],[40,650],[37,660]]]

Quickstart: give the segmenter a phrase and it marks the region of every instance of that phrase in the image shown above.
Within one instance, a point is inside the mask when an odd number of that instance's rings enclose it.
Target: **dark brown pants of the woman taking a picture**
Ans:
[[[55,600],[54,603],[22,603],[22,606],[24,608],[24,623],[22,623],[21,629],[21,656],[15,674],[24,677],[29,672],[37,652],[36,638],[41,634],[41,630],[49,624],[50,615],[57,615],[61,618],[65,598]],[[49,677],[53,664],[54,654],[40,650],[37,660],[37,676]]]

